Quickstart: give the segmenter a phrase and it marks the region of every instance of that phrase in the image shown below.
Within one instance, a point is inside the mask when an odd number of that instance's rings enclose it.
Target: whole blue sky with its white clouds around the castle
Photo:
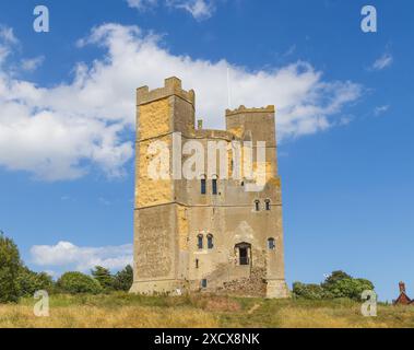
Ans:
[[[0,4],[0,228],[36,270],[130,259],[134,88],[168,74],[223,127],[232,100],[277,109],[286,278],[343,269],[414,295],[414,4],[370,1]],[[64,242],[60,243],[59,242]]]

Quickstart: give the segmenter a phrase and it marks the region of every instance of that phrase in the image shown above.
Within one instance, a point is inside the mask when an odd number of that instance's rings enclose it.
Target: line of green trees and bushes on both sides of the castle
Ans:
[[[0,303],[17,302],[20,298],[33,296],[38,290],[49,294],[99,294],[113,291],[129,291],[133,281],[130,265],[113,275],[109,269],[96,266],[91,276],[79,271],[64,272],[57,281],[46,272],[35,272],[20,258],[17,246],[0,231]],[[294,299],[338,299],[360,300],[365,290],[374,290],[369,280],[353,278],[343,271],[333,271],[319,284],[294,282]]]

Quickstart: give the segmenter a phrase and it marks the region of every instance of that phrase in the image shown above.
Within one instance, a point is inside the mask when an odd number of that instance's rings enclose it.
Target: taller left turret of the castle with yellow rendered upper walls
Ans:
[[[185,208],[177,202],[179,182],[173,178],[173,143],[175,132],[190,135],[194,128],[194,92],[182,90],[181,81],[175,77],[166,79],[164,88],[137,90],[132,292],[170,292],[184,288],[187,231]],[[162,145],[166,152],[166,162],[161,162],[165,172],[154,177],[150,164],[159,156]]]

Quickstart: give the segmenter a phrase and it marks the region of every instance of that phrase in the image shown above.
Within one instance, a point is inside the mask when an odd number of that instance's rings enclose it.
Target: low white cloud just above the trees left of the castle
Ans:
[[[95,266],[111,270],[132,264],[132,244],[106,247],[79,247],[70,242],[57,245],[35,245],[31,248],[33,264],[47,267],[64,267],[88,271]]]

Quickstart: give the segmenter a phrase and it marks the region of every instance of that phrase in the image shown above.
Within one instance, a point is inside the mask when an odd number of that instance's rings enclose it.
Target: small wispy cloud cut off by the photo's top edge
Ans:
[[[159,4],[157,0],[127,0],[127,2],[130,8],[141,11]],[[211,18],[215,11],[213,0],[164,0],[161,3],[173,9],[185,10],[198,21]]]

